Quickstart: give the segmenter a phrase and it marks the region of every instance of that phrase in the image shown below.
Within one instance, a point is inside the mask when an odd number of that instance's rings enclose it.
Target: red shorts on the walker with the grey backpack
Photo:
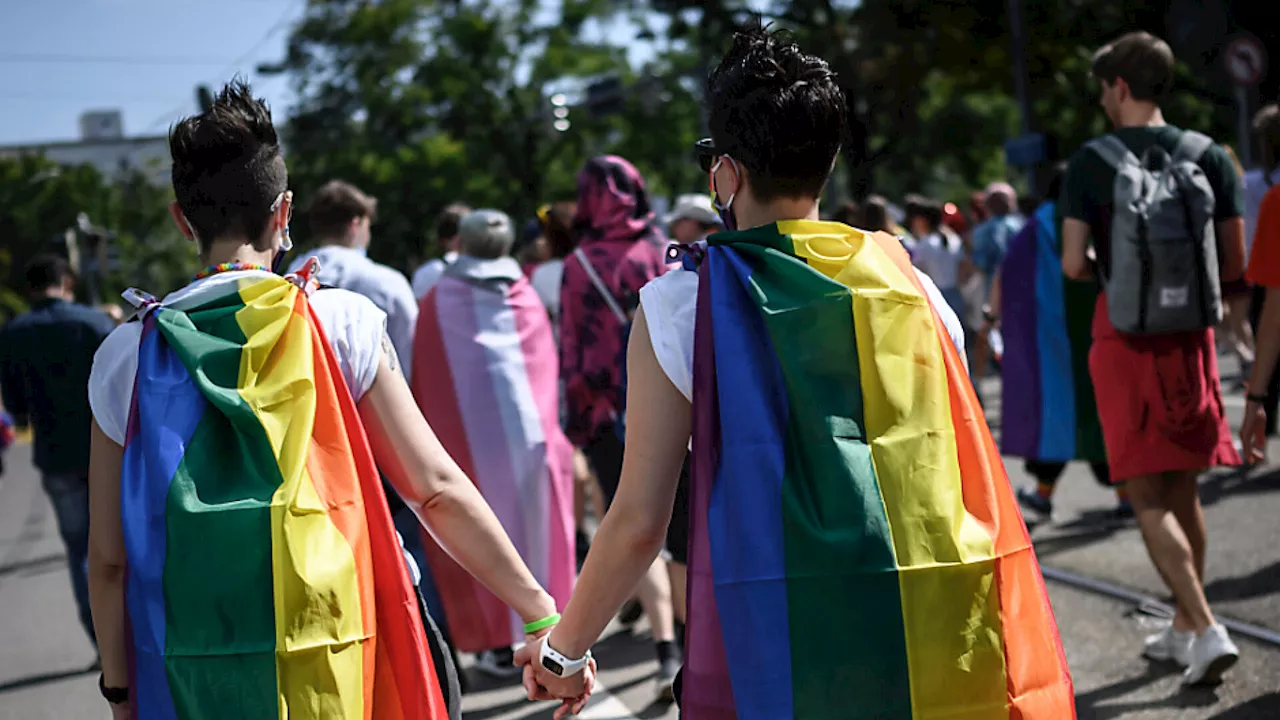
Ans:
[[[1100,293],[1089,374],[1112,482],[1240,464],[1222,407],[1212,329],[1121,334]]]

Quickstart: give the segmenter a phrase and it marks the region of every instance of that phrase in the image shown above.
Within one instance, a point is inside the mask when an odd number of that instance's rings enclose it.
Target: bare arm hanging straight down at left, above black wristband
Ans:
[[[109,688],[129,684],[124,634],[124,533],[120,529],[120,462],[124,448],[93,421],[88,464],[88,601]]]

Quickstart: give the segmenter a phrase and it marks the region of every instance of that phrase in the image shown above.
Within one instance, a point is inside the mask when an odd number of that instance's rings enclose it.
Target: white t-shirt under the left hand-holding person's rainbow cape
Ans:
[[[224,295],[244,278],[269,277],[262,270],[219,273],[170,293],[161,304],[169,307],[195,307]],[[311,307],[329,337],[338,368],[356,402],[374,384],[381,359],[381,338],[387,314],[371,300],[346,290],[326,288],[311,293]],[[119,445],[129,423],[133,380],[138,374],[138,343],[142,323],[125,323],[106,336],[93,356],[88,377],[88,405],[99,427]]]

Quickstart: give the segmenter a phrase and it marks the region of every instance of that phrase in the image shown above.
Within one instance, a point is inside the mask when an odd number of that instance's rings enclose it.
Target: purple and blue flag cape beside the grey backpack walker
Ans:
[[[1010,241],[1000,278],[1001,448],[1032,460],[1105,461],[1089,379],[1098,287],[1062,275],[1052,202]]]

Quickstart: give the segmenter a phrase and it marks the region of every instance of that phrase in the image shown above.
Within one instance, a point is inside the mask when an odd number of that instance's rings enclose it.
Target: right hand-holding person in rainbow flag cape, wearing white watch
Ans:
[[[641,291],[617,500],[563,619],[517,655],[526,692],[590,689],[691,437],[684,717],[1075,717],[954,313],[896,238],[818,220],[846,106],[827,63],[753,23],[707,97],[731,232]]]

